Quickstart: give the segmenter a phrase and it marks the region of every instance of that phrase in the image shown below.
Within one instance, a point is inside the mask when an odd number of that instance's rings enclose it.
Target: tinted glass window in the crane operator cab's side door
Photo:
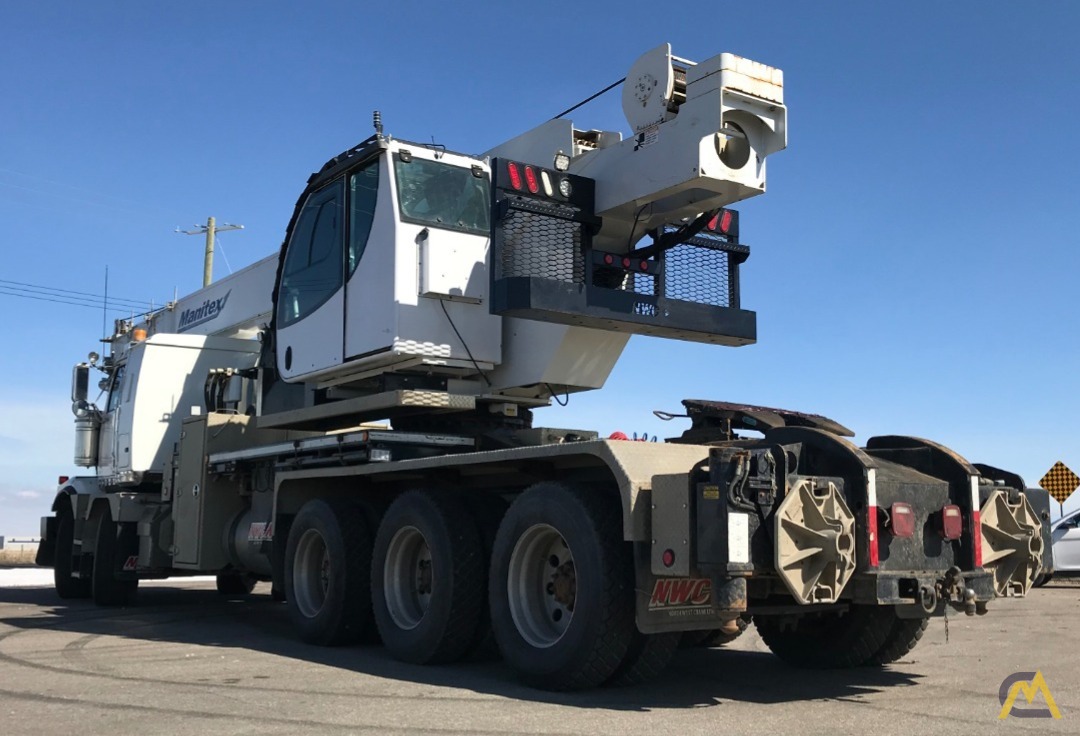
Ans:
[[[278,321],[297,322],[341,287],[343,258],[343,182],[311,193],[300,211],[285,253],[279,290]]]

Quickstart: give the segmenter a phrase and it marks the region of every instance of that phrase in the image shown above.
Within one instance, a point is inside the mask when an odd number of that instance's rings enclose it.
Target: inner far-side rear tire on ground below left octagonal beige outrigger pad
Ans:
[[[788,627],[771,616],[755,616],[761,641],[788,665],[805,669],[859,667],[885,646],[895,612],[888,606],[852,605],[840,616],[804,616]]]

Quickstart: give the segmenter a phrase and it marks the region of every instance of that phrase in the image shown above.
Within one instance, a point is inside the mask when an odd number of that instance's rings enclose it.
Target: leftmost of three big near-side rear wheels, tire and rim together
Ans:
[[[360,510],[309,500],[296,514],[285,546],[285,599],[309,644],[357,641],[370,626],[372,534]]]

